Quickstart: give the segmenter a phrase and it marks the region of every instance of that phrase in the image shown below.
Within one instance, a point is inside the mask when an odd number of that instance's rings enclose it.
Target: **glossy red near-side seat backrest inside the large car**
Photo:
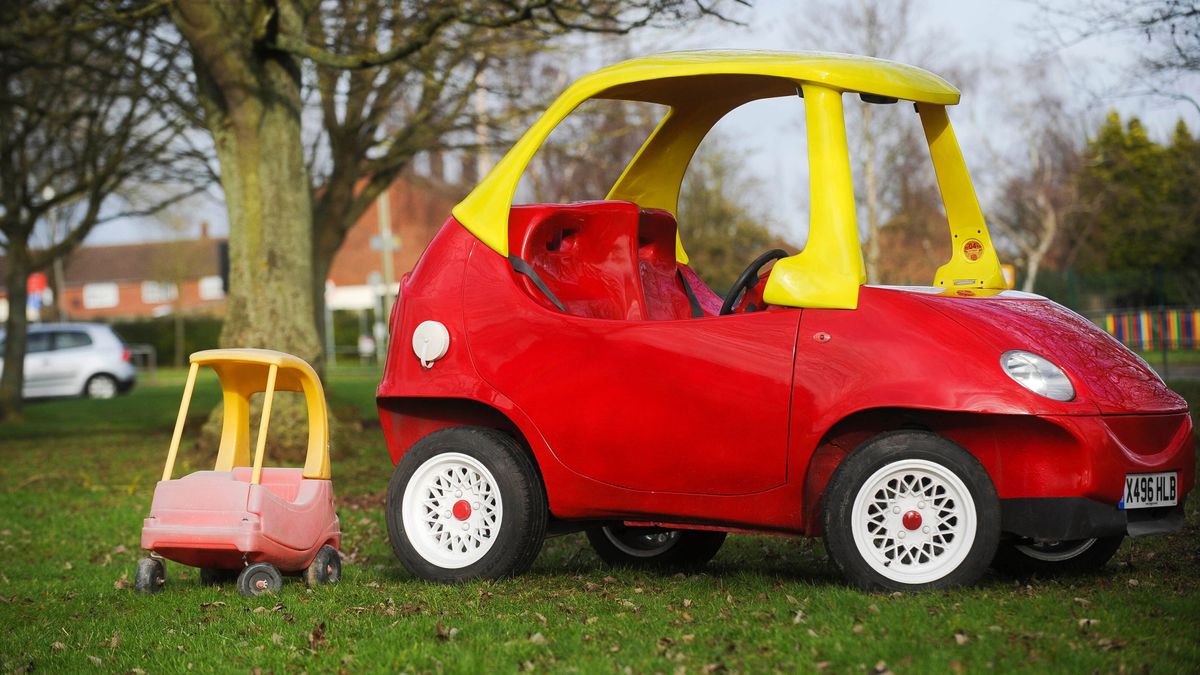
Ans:
[[[509,249],[529,263],[568,313],[642,319],[637,205],[630,202],[533,204],[509,211]],[[517,275],[535,300],[553,303]]]

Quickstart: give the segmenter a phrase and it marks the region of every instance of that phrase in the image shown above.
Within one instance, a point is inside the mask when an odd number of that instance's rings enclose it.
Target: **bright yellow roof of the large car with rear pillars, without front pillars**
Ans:
[[[794,96],[799,84],[952,106],[959,90],[904,64],[827,52],[667,52],[600,68],[571,84],[478,186],[454,216],[488,247],[509,255],[509,208],[521,174],[550,132],[588,98],[671,107],[655,135],[610,192],[643,208],[676,211],[679,181],[700,141],[727,112],[757,98]],[[680,246],[678,257],[686,262]]]

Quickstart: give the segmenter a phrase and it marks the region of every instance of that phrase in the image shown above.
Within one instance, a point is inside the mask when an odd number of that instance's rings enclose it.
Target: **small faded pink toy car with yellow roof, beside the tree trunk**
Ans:
[[[162,558],[200,568],[200,581],[236,577],[245,596],[277,592],[281,573],[304,573],[310,585],[342,574],[342,533],[334,512],[325,394],[304,360],[268,350],[210,350],[192,354],[184,402],[155,488],[134,589],[154,593],[166,584]],[[223,392],[221,446],[212,471],[172,479],[187,406],[199,366],[216,371]],[[304,468],[265,468],[263,455],[275,392],[301,392],[308,411]],[[250,399],[264,393],[254,461],[250,462]]]

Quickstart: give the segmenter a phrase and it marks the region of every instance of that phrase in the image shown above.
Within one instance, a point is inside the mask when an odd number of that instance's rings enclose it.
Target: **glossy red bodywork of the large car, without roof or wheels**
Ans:
[[[509,228],[510,250],[569,311],[446,221],[391,317],[377,394],[392,461],[439,429],[490,426],[532,452],[560,521],[815,536],[826,483],[847,453],[881,432],[923,429],[982,462],[1009,534],[1182,525],[1195,482],[1186,401],[1045,298],[864,286],[854,310],[716,316],[721,298],[676,262],[665,211],[515,207]],[[691,318],[678,274],[703,317]],[[749,295],[743,305],[758,297]],[[433,368],[408,348],[425,321],[450,335]],[[1052,358],[1074,399],[1018,384],[1000,366],[1009,350]],[[1178,473],[1178,506],[1118,508],[1127,474],[1165,471]]]

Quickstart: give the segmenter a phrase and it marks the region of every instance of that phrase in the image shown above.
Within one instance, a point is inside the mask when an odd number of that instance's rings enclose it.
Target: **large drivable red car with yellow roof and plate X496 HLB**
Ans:
[[[798,92],[808,243],[719,295],[677,233],[680,180],[727,112]],[[850,95],[916,104],[949,223],[929,287],[865,285]],[[589,98],[667,112],[604,201],[512,205]],[[815,53],[660,54],[566,89],[402,281],[378,388],[400,560],[516,574],[547,533],[586,528],[610,563],[689,567],[726,532],[806,534],[858,586],[919,590],[1096,568],[1126,534],[1180,528],[1187,404],[1079,315],[1007,289],[958,101],[926,71]]]

